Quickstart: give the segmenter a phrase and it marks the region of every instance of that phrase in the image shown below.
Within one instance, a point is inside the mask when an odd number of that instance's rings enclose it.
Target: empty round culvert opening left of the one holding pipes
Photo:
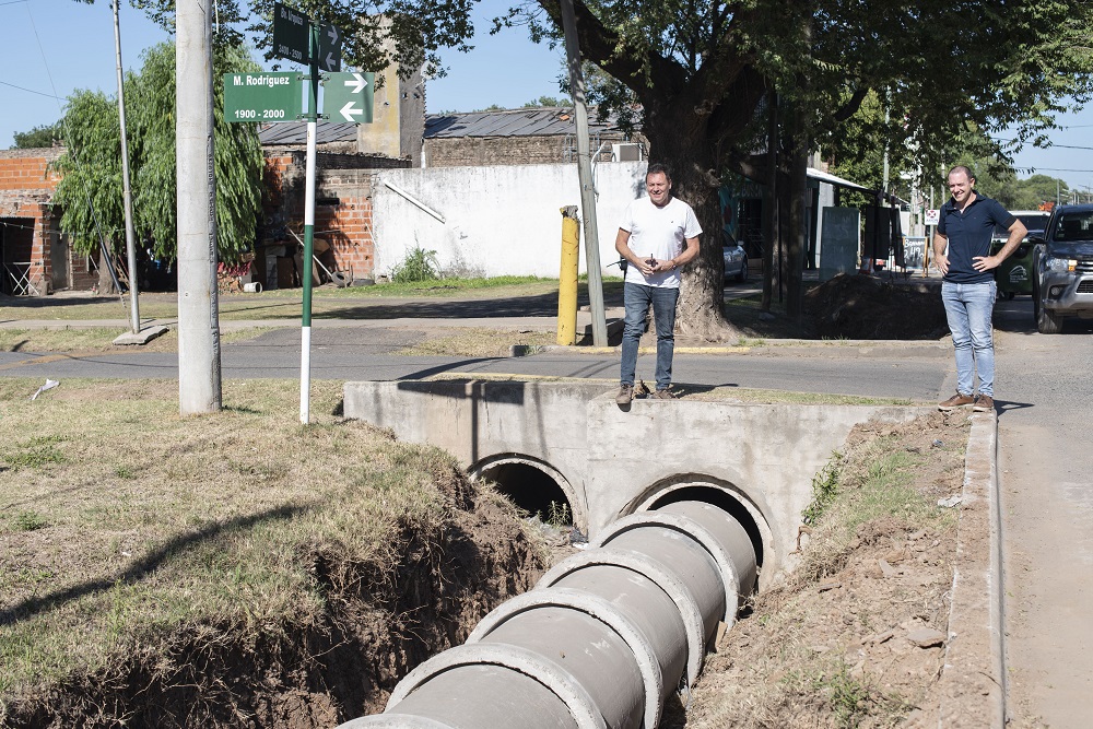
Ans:
[[[497,491],[528,514],[538,515],[544,521],[564,518],[566,524],[575,524],[573,490],[549,463],[504,455],[490,458],[469,472],[472,478],[495,483]]]

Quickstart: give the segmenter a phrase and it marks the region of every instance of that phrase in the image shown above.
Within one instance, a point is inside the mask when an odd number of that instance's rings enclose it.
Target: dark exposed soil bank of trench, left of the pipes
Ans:
[[[496,493],[455,469],[433,481],[450,517],[430,533],[406,525],[393,563],[299,545],[327,604],[316,622],[267,626],[251,640],[238,636],[255,631],[233,625],[149,635],[108,669],[0,705],[0,726],[305,729],[381,712],[399,679],[462,643],[549,560]]]

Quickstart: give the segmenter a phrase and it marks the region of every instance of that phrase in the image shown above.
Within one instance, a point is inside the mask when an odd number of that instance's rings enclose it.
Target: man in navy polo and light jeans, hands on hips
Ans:
[[[972,405],[976,412],[995,409],[995,344],[990,320],[995,308],[992,269],[1012,254],[1029,231],[998,201],[976,195],[975,178],[964,166],[949,172],[952,199],[941,207],[933,234],[933,256],[944,275],[941,301],[956,350],[956,395],[938,408],[944,411]],[[990,234],[999,225],[1010,232],[996,255]],[[947,250],[948,247],[948,250]],[[979,376],[979,395],[973,397],[973,375]]]

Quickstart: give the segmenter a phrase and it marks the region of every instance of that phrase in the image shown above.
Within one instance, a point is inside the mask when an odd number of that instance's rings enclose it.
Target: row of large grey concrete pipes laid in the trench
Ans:
[[[654,729],[756,572],[748,532],[716,506],[633,514],[340,729]]]

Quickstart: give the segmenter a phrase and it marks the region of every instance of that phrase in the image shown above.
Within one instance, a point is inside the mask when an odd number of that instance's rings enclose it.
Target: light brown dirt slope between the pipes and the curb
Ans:
[[[866,475],[879,438],[914,455],[905,485],[924,503],[961,492],[966,415],[855,428],[844,483]],[[845,542],[821,521],[806,541],[801,568],[755,598],[708,657],[690,708],[662,727],[937,726],[955,519],[889,514]]]

